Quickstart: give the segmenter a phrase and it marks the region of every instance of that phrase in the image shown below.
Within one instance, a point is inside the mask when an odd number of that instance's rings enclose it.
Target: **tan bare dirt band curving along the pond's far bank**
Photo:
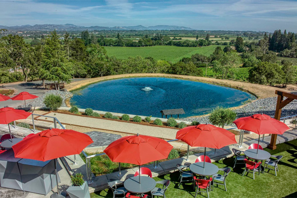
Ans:
[[[265,85],[257,85],[257,84],[245,83],[245,82],[238,82],[238,81],[232,81],[232,80],[222,80],[222,79],[215,79],[215,78],[184,76],[184,75],[174,75],[174,74],[121,74],[121,75],[113,75],[113,76],[103,76],[98,78],[90,78],[79,82],[73,82],[66,85],[65,88],[68,91],[72,91],[99,81],[118,79],[118,78],[131,78],[131,77],[180,78],[184,80],[193,80],[193,81],[199,81],[199,82],[212,83],[212,84],[232,87],[235,89],[246,91],[248,93],[255,95],[258,99],[275,97],[276,96],[275,90],[282,90],[281,88],[270,87]],[[296,88],[297,88],[296,86],[290,86],[290,89],[296,89]]]

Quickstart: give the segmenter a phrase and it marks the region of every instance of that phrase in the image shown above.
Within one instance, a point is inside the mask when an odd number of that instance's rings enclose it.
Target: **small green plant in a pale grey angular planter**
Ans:
[[[89,186],[83,179],[83,175],[81,173],[77,173],[75,175],[71,175],[70,178],[72,186],[66,190],[70,198],[90,198]]]

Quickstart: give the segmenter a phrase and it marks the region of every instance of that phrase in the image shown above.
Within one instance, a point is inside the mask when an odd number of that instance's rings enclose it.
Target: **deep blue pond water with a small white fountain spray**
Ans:
[[[146,88],[147,87],[147,88]],[[254,96],[232,88],[171,78],[124,78],[103,81],[73,92],[79,108],[161,117],[160,110],[183,108],[189,117],[216,106],[239,106]]]

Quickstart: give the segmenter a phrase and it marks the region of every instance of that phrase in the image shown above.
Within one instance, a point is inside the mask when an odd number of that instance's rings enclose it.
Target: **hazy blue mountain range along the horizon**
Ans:
[[[73,24],[65,25],[54,25],[54,24],[43,24],[43,25],[21,25],[21,26],[2,26],[0,29],[7,29],[11,31],[83,31],[83,30],[195,30],[188,27],[181,26],[170,26],[170,25],[156,25],[145,27],[142,25],[138,26],[115,26],[115,27],[102,27],[102,26],[77,26]]]

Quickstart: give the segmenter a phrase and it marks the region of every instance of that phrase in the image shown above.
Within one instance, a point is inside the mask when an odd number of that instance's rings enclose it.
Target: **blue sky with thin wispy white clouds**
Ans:
[[[66,23],[297,32],[297,0],[0,0],[0,25]]]

